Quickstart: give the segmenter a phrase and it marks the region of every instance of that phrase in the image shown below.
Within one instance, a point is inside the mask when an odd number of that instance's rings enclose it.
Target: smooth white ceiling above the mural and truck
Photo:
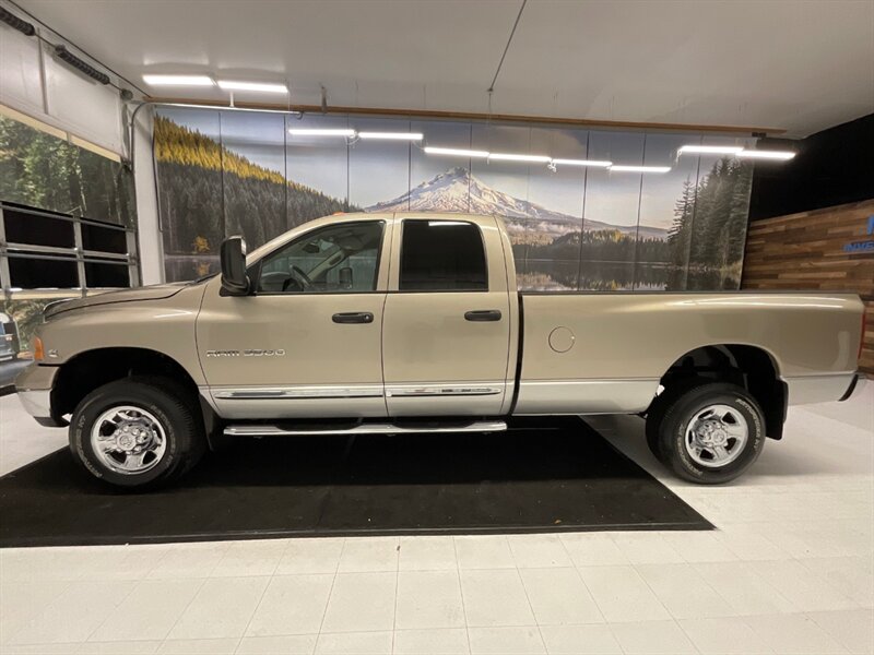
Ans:
[[[19,5],[151,95],[226,99],[142,81],[197,72],[287,81],[300,105],[323,85],[334,106],[487,112],[521,0]],[[874,0],[529,0],[492,111],[805,136],[874,111]]]

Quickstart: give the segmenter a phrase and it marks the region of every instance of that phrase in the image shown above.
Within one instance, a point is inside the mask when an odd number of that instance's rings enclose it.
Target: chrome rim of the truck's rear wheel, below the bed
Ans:
[[[686,452],[696,464],[721,468],[734,462],[749,438],[743,415],[729,405],[708,405],[686,427]]]

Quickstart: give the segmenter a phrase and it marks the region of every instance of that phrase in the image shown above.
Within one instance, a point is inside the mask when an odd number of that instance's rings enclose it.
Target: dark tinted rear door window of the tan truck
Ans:
[[[404,221],[400,289],[488,290],[480,228],[456,221]]]

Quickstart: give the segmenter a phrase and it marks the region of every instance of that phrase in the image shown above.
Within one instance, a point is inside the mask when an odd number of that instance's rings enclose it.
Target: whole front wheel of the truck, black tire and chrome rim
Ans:
[[[93,476],[128,489],[176,479],[197,464],[205,446],[191,393],[168,378],[104,384],[79,403],[70,421],[74,458]]]

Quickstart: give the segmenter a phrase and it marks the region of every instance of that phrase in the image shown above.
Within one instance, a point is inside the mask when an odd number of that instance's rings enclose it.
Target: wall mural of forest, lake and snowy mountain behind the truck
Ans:
[[[427,154],[422,143],[290,129],[424,134],[433,146],[671,166],[666,174]],[[520,288],[736,289],[753,168],[677,157],[701,135],[355,116],[161,108],[158,200],[168,281],[215,272],[225,236],[250,248],[335,212],[497,214]],[[754,140],[707,136],[707,144]]]

